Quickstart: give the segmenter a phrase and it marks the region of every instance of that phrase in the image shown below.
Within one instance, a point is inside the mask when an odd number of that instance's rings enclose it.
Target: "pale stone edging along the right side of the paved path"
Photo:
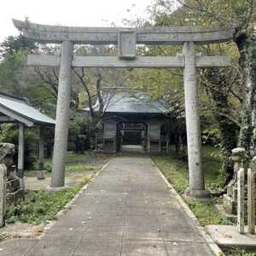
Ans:
[[[183,198],[180,195],[177,194],[177,191],[173,188],[172,184],[169,183],[167,178],[160,171],[158,166],[154,163],[154,160],[152,160],[151,158],[150,158],[150,160],[151,160],[154,168],[160,173],[160,177],[163,178],[163,180],[165,181],[165,183],[168,186],[168,188],[170,188],[172,193],[175,194],[175,197],[176,197],[177,201],[179,202],[179,204],[181,205],[181,207],[183,207],[184,212],[186,212],[189,215],[189,218],[192,218],[192,220],[193,220],[193,222],[195,224],[195,227],[200,231],[200,234],[205,239],[205,241],[207,241],[207,245],[211,248],[212,253],[214,253],[214,255],[216,255],[216,256],[224,256],[224,252],[212,240],[212,237],[207,234],[207,232],[204,230],[204,228],[199,223],[198,219],[195,217],[195,214],[190,210],[189,206],[185,203],[185,201],[183,201]]]

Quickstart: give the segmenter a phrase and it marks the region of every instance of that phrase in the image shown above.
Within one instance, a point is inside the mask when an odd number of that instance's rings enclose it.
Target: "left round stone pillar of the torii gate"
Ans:
[[[65,186],[65,163],[67,159],[67,134],[72,61],[73,43],[70,41],[63,41],[61,44],[61,68],[59,76],[55,125],[55,145],[50,189],[61,189]]]

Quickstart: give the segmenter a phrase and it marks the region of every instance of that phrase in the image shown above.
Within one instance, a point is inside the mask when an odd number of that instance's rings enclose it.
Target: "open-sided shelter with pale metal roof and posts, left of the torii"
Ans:
[[[18,169],[17,176],[23,178],[24,172],[24,129],[25,126],[38,126],[39,134],[39,170],[38,178],[44,178],[44,129],[55,125],[55,120],[49,118],[38,109],[32,108],[26,99],[0,92],[0,124],[19,124]]]

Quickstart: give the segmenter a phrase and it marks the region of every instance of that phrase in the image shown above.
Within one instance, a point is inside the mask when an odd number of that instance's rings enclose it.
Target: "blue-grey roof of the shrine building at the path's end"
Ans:
[[[152,99],[144,90],[104,88],[102,98],[105,113],[166,113],[167,110],[165,102]],[[94,108],[99,109],[98,102]]]

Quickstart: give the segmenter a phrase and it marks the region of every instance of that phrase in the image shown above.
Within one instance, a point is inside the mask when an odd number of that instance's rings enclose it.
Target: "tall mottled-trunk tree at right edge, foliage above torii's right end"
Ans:
[[[168,2],[168,1],[167,1]],[[255,1],[253,0],[177,0],[193,25],[218,25],[234,28],[241,73],[241,129],[239,145],[256,154],[256,39]]]

